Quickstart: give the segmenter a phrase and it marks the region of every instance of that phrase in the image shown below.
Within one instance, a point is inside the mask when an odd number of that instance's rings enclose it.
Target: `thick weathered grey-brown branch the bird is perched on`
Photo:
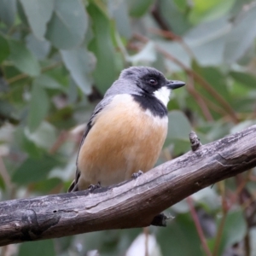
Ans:
[[[256,125],[109,188],[0,203],[0,245],[145,227],[185,197],[256,166]]]

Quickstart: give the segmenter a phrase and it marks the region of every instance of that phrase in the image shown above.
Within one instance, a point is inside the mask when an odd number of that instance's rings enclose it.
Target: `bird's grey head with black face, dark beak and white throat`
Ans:
[[[147,98],[147,104],[141,104],[144,108],[148,108],[148,103],[152,101],[159,101],[166,107],[171,91],[183,85],[185,83],[181,81],[166,79],[163,73],[154,67],[129,67],[120,73],[119,79],[108,89],[105,97],[130,94],[140,103],[145,103],[143,98]]]

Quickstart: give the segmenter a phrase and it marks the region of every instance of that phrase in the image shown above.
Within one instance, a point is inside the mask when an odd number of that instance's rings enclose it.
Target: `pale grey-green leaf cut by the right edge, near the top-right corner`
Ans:
[[[233,29],[227,35],[224,47],[224,61],[228,63],[237,61],[253,44],[256,37],[255,16],[255,5],[238,16]]]

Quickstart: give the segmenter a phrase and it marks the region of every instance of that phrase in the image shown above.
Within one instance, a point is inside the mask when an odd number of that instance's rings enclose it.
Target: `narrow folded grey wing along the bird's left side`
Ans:
[[[103,98],[102,102],[99,102],[99,104],[97,104],[94,112],[92,113],[89,122],[87,123],[85,130],[84,130],[84,135],[82,137],[80,146],[79,146],[79,152],[80,152],[80,148],[82,147],[83,143],[84,143],[84,139],[87,136],[87,134],[89,133],[91,127],[94,125],[94,119],[96,118],[96,115],[98,113],[100,113],[102,111],[103,108],[105,108],[113,99],[113,96],[108,96]],[[75,179],[73,180],[73,183],[71,183],[69,189],[67,190],[67,192],[74,192],[74,191],[79,191],[79,187],[78,187],[78,182],[79,182],[79,177],[80,177],[80,171],[79,171],[79,167],[78,167],[78,159],[79,159],[79,153],[77,156],[77,161],[76,161],[76,166],[77,166],[77,170],[76,170],[76,174],[75,174]]]

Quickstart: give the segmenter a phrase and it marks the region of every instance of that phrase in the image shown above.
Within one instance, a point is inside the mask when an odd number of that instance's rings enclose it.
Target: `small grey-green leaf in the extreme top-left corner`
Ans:
[[[3,20],[6,25],[12,26],[15,23],[16,12],[16,0],[0,1],[0,20]]]

